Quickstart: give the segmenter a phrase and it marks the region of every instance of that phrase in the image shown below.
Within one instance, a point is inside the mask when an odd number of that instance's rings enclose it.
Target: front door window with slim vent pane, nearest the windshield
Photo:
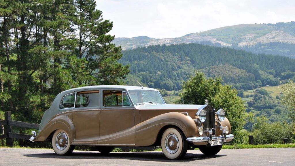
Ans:
[[[130,106],[127,93],[120,90],[104,90],[104,107]]]

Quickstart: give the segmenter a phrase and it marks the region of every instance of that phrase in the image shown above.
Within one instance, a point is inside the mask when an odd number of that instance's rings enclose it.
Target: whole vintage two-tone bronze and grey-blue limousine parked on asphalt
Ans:
[[[210,105],[165,104],[157,89],[101,85],[58,94],[43,115],[31,141],[52,141],[53,150],[70,154],[75,145],[114,147],[161,146],[168,159],[190,147],[216,154],[233,139],[224,110]]]

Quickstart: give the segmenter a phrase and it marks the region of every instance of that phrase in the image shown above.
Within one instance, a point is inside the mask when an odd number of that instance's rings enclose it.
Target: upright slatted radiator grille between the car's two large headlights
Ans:
[[[206,120],[203,122],[203,136],[208,136],[208,131],[215,128],[215,109],[205,109]]]

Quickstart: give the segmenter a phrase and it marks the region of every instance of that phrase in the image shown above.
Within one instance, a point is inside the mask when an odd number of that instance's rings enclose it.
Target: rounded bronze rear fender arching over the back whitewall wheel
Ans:
[[[45,141],[50,134],[58,129],[62,129],[69,135],[69,140],[72,144],[75,139],[75,126],[73,121],[66,115],[57,115],[53,117],[47,125],[40,131],[34,141]]]

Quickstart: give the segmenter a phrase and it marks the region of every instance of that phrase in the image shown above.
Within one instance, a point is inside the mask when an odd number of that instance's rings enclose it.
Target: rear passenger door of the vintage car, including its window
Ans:
[[[96,144],[99,138],[100,89],[76,92],[74,144]]]

